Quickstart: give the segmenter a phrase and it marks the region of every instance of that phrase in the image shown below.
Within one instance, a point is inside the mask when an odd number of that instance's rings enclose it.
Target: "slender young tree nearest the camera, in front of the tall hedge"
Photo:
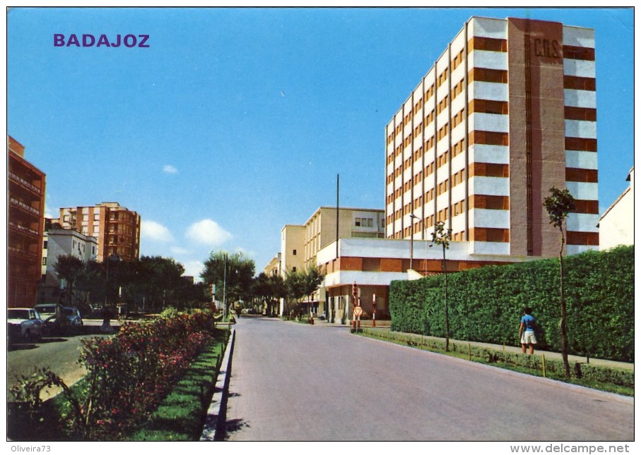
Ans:
[[[576,201],[567,189],[560,190],[553,186],[550,188],[550,195],[543,200],[550,217],[550,224],[560,232],[560,250],[559,259],[559,294],[561,304],[561,318],[559,322],[561,336],[561,354],[563,356],[563,367],[565,368],[565,377],[570,378],[570,362],[568,361],[568,327],[566,322],[567,305],[565,304],[565,292],[563,289],[563,248],[565,247],[565,220],[570,212],[576,210]]]

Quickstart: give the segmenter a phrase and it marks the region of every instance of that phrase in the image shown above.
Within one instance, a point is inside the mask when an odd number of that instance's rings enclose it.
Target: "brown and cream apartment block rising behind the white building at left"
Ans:
[[[54,220],[64,229],[75,229],[98,239],[98,262],[110,255],[122,260],[136,260],[140,255],[140,215],[118,202],[102,202],[88,207],[60,209]]]

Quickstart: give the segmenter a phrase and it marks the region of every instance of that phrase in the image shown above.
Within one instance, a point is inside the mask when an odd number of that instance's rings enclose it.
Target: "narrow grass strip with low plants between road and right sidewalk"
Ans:
[[[490,348],[469,348],[466,343],[453,344],[452,342],[450,342],[451,350],[445,351],[445,341],[434,339],[426,340],[422,336],[416,334],[394,332],[393,334],[385,336],[386,334],[384,334],[382,330],[377,329],[361,329],[361,331],[357,333],[360,336],[389,341],[401,346],[411,346],[413,348],[422,349],[423,351],[430,351],[445,356],[471,360],[476,363],[482,363],[483,365],[490,365],[497,368],[504,368],[506,370],[522,372],[527,375],[543,377],[542,368],[540,368],[541,359],[538,356],[530,357],[519,356],[513,353],[506,354],[500,350]],[[633,371],[623,371],[613,368],[599,367],[596,365],[577,365],[575,365],[575,374],[578,369],[578,371],[582,372],[582,375],[590,375],[591,377],[571,377],[568,380],[565,378],[565,374],[563,372],[563,363],[560,360],[553,359],[546,359],[546,377],[548,379],[568,382],[570,384],[598,389],[604,392],[634,396],[635,389]]]

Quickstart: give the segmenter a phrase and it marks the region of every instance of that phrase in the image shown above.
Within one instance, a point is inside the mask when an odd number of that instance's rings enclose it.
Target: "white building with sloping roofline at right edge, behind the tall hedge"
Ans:
[[[628,173],[630,186],[612,203],[599,219],[600,250],[618,245],[635,244],[635,168]]]

